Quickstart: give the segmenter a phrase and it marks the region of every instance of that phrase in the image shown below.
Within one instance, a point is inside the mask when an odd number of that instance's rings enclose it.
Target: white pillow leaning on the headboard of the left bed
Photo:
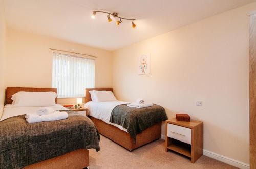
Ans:
[[[55,92],[18,92],[12,95],[15,107],[47,107],[55,105]]]

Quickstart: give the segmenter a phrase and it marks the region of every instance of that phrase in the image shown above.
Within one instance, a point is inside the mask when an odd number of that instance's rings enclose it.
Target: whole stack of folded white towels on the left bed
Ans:
[[[36,114],[27,113],[25,118],[28,123],[55,121],[68,118],[67,112],[53,111],[51,107],[43,107],[36,111]]]

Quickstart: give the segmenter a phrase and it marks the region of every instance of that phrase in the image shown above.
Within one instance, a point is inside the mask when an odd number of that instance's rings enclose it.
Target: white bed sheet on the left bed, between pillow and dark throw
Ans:
[[[56,104],[54,106],[49,106],[49,107],[52,107],[54,111],[68,110],[67,108],[63,107],[60,104]],[[14,117],[18,115],[25,115],[27,113],[36,114],[36,111],[40,108],[42,107],[15,107],[11,104],[7,104],[4,107],[3,115],[0,122],[10,117]]]

